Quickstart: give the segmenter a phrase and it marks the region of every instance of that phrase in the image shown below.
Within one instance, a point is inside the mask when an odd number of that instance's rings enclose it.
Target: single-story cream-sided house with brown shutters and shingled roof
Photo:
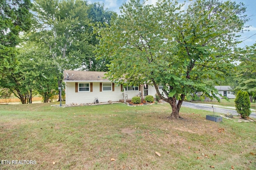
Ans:
[[[152,85],[123,87],[104,78],[105,74],[106,72],[98,71],[64,70],[66,104],[93,103],[95,98],[98,98],[99,102],[120,101],[124,99],[124,88],[128,99],[132,99],[139,93],[142,93],[142,97],[147,95],[155,97],[156,89]]]

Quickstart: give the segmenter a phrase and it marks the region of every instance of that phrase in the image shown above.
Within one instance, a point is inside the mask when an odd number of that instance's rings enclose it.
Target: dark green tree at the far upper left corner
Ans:
[[[0,1],[0,78],[17,69],[16,45],[20,32],[28,31],[32,14],[30,0]]]

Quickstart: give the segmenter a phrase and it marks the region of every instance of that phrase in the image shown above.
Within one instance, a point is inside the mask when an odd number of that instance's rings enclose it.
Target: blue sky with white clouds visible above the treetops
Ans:
[[[100,4],[104,4],[105,8],[108,8],[111,11],[120,14],[119,7],[122,6],[123,3],[128,0],[87,0],[89,3],[99,2]],[[224,0],[222,0],[224,1]],[[248,29],[250,31],[246,31],[240,37],[240,40],[243,41],[238,45],[238,47],[251,46],[256,43],[256,0],[232,0],[237,3],[242,2],[246,6],[246,15],[251,19],[246,23],[246,25],[251,25]],[[148,0],[148,4],[155,4],[157,0]],[[183,2],[183,0],[180,0]]]

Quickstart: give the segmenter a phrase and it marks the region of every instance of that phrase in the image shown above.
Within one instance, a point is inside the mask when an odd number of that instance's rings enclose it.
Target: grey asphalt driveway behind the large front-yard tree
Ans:
[[[193,109],[213,111],[212,110],[212,104],[200,104],[200,103],[183,102],[182,106],[193,108]],[[232,115],[238,115],[238,113],[235,110],[236,109],[235,107],[224,107],[224,106],[220,106],[220,105],[213,105],[213,107],[214,107],[214,112],[215,113],[222,113],[222,114],[230,113]],[[250,114],[250,117],[256,118],[255,109],[252,109],[252,113]]]

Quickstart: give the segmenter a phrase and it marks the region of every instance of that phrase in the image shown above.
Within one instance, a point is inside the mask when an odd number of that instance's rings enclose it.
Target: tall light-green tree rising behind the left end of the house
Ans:
[[[40,31],[37,43],[44,43],[55,66],[58,86],[62,86],[65,69],[77,69],[84,58],[92,55],[88,5],[82,0],[35,0]],[[88,64],[88,63],[83,63]]]

